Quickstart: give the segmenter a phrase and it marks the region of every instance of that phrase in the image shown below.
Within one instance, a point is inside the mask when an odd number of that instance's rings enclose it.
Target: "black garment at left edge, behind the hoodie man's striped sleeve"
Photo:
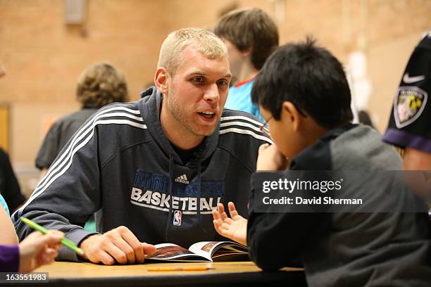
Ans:
[[[17,209],[25,201],[20,185],[13,172],[8,155],[0,149],[0,193],[6,200],[9,210]]]

